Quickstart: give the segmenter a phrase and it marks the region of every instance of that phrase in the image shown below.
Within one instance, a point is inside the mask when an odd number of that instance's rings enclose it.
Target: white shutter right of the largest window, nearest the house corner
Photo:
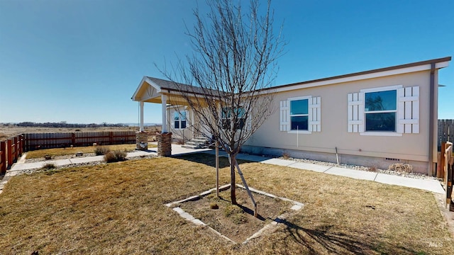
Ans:
[[[397,132],[419,134],[419,86],[397,89]]]

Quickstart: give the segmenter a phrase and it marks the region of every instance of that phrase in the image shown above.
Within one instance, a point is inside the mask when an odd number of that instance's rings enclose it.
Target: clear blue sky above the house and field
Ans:
[[[0,0],[0,123],[137,123],[143,76],[190,50],[192,0]],[[206,9],[205,1],[199,7]],[[454,1],[274,0],[276,85],[454,55]],[[454,62],[439,118],[454,118]],[[145,103],[145,122],[160,105]]]

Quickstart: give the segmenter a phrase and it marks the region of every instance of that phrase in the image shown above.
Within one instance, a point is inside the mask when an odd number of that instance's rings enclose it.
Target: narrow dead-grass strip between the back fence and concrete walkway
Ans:
[[[121,150],[123,152],[133,152],[136,145],[103,145],[110,151]],[[148,147],[156,147],[156,145],[148,144]],[[55,149],[38,149],[35,151],[27,152],[27,159],[39,159],[44,158],[45,155],[50,155],[51,157],[57,156],[65,156],[70,154],[76,154],[77,152],[84,152],[85,153],[94,153],[94,146],[87,146],[87,147],[74,147],[74,148],[55,148]]]

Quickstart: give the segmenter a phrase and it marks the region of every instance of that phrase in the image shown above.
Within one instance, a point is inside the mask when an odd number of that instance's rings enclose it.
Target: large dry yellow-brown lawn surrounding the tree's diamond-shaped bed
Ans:
[[[0,253],[454,254],[432,193],[240,163],[249,186],[305,204],[248,244],[164,205],[214,187],[214,157],[192,154],[13,177],[0,195]]]

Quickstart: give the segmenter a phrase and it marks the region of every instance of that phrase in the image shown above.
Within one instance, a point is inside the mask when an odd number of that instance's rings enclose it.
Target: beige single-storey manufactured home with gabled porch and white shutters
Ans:
[[[272,88],[277,111],[243,145],[271,154],[432,174],[437,162],[438,71],[451,57]],[[163,132],[187,140],[197,121],[171,81],[143,77],[133,95],[161,103]],[[271,90],[270,90],[271,91]],[[168,98],[172,98],[172,105]],[[200,127],[198,127],[199,129]],[[202,127],[203,128],[203,127]]]

